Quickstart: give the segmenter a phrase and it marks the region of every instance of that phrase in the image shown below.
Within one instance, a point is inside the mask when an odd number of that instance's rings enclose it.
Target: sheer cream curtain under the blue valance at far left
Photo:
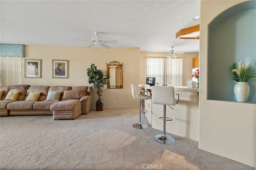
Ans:
[[[21,64],[23,57],[0,57],[1,77],[0,85],[19,85],[21,84]]]

